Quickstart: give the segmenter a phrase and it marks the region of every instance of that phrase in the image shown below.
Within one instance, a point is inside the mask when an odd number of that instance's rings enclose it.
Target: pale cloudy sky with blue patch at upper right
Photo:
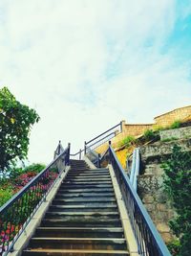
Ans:
[[[191,103],[191,2],[1,0],[0,86],[34,107],[29,158]]]

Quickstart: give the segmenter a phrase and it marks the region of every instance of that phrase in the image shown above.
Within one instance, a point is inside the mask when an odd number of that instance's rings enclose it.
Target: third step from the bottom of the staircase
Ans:
[[[35,237],[123,238],[124,234],[119,227],[38,227]]]

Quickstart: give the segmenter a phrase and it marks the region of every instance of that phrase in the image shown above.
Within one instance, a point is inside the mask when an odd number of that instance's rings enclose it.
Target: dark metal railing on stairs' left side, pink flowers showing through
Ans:
[[[70,144],[46,169],[0,207],[0,255],[7,255],[12,250],[13,244],[32,220],[69,161]]]

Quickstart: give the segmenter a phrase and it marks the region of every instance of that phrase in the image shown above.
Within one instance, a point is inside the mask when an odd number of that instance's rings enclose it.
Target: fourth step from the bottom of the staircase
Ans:
[[[100,220],[98,218],[85,219],[43,219],[41,221],[41,226],[70,226],[70,227],[121,227],[121,221],[118,219],[107,219]]]

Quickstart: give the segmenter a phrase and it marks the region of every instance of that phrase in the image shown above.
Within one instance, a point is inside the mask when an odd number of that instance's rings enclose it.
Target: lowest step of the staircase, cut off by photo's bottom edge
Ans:
[[[129,256],[127,250],[31,249],[22,256]]]

